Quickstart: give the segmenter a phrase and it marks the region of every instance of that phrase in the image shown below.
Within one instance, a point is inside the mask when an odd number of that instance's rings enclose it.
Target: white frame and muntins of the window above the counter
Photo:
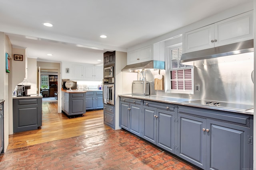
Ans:
[[[189,65],[186,65],[185,67],[182,67],[182,68],[179,68],[179,63],[178,63],[178,68],[173,68],[172,69],[172,59],[170,58],[171,54],[170,52],[174,49],[179,49],[179,48],[182,48],[182,43],[178,43],[178,44],[174,44],[174,45],[170,45],[170,46],[167,46],[166,47],[166,75],[167,75],[167,80],[168,80],[168,90],[167,92],[170,92],[170,93],[180,93],[180,94],[194,94],[194,66],[189,66]],[[192,90],[185,90],[184,86],[184,81],[185,80],[190,80],[190,79],[185,79],[184,77],[184,70],[186,69],[191,69],[191,86],[192,86]],[[171,71],[174,71],[174,70],[183,70],[183,89],[171,89],[172,88],[172,85],[171,85],[171,80],[174,80],[174,79],[171,79]],[[182,79],[176,79],[176,81],[178,80],[182,80]],[[177,84],[178,86],[178,84]]]

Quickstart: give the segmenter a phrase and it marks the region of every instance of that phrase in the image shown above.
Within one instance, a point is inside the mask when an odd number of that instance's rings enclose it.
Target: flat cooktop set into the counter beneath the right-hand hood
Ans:
[[[228,109],[238,109],[238,110],[244,110],[244,111],[253,108],[253,105],[250,105],[250,104],[241,104],[241,103],[232,103],[232,102],[216,102],[216,101],[213,102],[208,100],[191,100],[184,103],[221,107],[221,108],[228,108]]]

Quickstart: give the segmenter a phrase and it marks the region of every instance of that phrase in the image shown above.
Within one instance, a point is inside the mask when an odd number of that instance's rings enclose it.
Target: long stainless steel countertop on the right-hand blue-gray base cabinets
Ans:
[[[188,101],[192,100],[198,100],[198,99],[188,99],[188,98],[175,98],[175,97],[169,97],[169,96],[156,96],[156,95],[134,95],[134,94],[120,94],[118,96],[121,97],[128,97],[128,98],[136,98],[136,99],[142,99],[142,100],[150,100],[155,102],[163,102],[163,103],[169,103],[169,104],[178,104],[183,106],[192,106],[192,107],[200,107],[205,109],[214,109],[214,110],[220,110],[220,111],[230,111],[234,113],[243,113],[243,114],[249,114],[254,115],[254,109],[249,110],[240,110],[240,109],[231,109],[231,108],[223,108],[218,106],[207,106],[207,105],[198,105],[198,104],[192,104],[192,103],[186,103]]]

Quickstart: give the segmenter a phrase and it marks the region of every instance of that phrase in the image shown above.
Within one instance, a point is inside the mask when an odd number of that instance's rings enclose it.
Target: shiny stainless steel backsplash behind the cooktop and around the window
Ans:
[[[195,63],[194,86],[199,85],[200,91],[194,94],[177,94],[166,92],[168,78],[166,70],[160,70],[164,76],[164,90],[154,90],[154,75],[159,71],[147,71],[146,80],[150,82],[151,94],[253,104],[253,53],[242,57],[228,56],[215,60],[204,60]],[[138,80],[140,74],[138,74]],[[152,88],[153,86],[153,88]]]

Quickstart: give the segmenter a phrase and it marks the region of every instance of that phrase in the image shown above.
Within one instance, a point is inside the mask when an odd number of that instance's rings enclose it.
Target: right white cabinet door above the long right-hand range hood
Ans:
[[[215,23],[215,47],[253,39],[253,12]]]

